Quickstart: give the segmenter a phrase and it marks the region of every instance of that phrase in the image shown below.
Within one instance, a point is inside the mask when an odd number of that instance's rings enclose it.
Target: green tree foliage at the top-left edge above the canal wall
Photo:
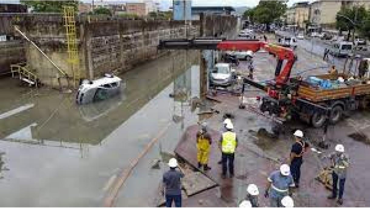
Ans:
[[[73,6],[77,11],[78,1],[20,1],[27,7],[32,7],[34,12],[62,13],[64,6]]]

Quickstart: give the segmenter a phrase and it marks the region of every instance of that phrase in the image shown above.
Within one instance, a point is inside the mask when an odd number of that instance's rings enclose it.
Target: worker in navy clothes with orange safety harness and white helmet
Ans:
[[[302,141],[303,132],[301,130],[296,130],[294,132],[295,143],[292,145],[292,150],[290,151],[290,172],[296,188],[299,187],[299,178],[300,178],[300,167],[303,162],[303,153],[309,147],[309,144],[305,141]]]

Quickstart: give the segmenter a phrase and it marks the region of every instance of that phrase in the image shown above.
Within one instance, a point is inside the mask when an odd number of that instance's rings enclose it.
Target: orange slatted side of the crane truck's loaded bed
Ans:
[[[323,74],[316,76],[322,79],[337,79],[337,77],[344,77],[344,74],[330,75]],[[370,84],[354,84],[341,86],[332,89],[320,89],[318,87],[313,87],[308,84],[302,83],[298,88],[298,96],[306,100],[312,101],[314,103],[319,103],[327,100],[340,99],[345,97],[350,97],[354,95],[368,95],[370,94]]]

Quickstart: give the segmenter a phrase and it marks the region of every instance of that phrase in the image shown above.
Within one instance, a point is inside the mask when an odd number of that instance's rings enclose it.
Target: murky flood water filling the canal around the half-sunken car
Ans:
[[[158,141],[122,186],[116,206],[150,206],[161,174],[151,163],[171,154],[198,121],[199,56],[181,51],[122,74],[120,96],[78,106],[74,93],[0,80],[2,207],[102,206],[112,181]],[[169,94],[181,92],[171,98]],[[164,158],[165,159],[165,158]]]

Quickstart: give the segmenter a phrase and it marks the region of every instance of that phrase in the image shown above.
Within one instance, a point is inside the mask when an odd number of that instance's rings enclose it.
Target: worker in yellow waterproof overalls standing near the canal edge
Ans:
[[[204,171],[211,169],[208,167],[209,151],[211,150],[211,136],[207,133],[207,124],[203,123],[200,131],[196,133],[196,148],[198,168],[203,166]]]

